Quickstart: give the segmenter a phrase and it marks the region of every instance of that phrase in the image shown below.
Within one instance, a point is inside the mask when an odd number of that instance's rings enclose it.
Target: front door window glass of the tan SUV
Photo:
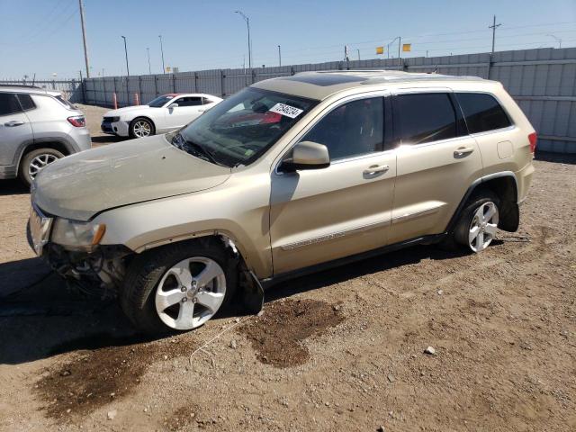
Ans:
[[[384,99],[344,103],[322,118],[301,141],[324,144],[331,160],[383,151]]]

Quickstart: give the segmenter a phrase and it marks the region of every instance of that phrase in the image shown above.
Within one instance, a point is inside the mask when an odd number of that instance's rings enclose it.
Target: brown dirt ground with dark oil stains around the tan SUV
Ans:
[[[0,430],[576,430],[575,202],[576,165],[539,160],[481,255],[412,247],[146,340],[33,257],[2,182]]]

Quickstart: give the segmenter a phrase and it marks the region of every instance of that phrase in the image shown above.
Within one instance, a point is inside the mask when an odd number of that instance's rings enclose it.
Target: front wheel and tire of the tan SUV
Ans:
[[[207,284],[198,277],[204,271],[215,275],[207,276]],[[120,293],[121,309],[137,329],[150,335],[188,331],[227,308],[237,280],[237,261],[218,239],[158,247],[130,263]]]

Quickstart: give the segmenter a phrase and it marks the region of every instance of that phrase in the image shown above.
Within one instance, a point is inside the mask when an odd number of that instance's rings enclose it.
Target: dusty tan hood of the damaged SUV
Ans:
[[[90,220],[113,207],[210,189],[229,175],[155,135],[58,160],[36,177],[32,201],[55,216]]]

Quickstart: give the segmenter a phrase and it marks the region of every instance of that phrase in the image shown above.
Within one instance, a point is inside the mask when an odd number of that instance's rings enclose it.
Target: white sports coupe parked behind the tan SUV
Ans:
[[[146,105],[106,112],[101,128],[119,137],[148,137],[183,127],[221,100],[211,94],[163,94]]]

